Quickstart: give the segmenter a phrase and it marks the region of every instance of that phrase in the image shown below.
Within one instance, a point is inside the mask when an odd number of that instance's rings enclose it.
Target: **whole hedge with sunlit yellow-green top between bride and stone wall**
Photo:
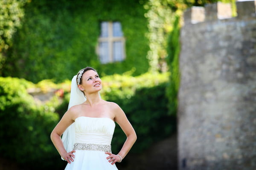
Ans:
[[[116,102],[126,113],[137,132],[137,142],[131,152],[140,153],[175,130],[175,116],[168,115],[165,95],[169,73],[132,77],[131,73],[102,77],[102,98]],[[119,126],[112,141],[113,152],[118,152],[125,141]]]

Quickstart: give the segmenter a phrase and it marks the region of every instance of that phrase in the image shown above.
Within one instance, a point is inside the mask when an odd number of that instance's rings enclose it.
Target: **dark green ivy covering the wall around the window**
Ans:
[[[147,20],[137,0],[32,0],[24,10],[22,27],[2,69],[4,77],[62,82],[86,66],[101,75],[132,68],[136,68],[134,75],[139,75],[148,70]],[[96,45],[101,21],[121,22],[126,44],[123,62],[100,65]]]

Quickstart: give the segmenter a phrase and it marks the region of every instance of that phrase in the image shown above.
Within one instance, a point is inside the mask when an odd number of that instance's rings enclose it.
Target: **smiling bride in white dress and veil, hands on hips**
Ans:
[[[91,67],[72,79],[69,109],[51,133],[61,158],[68,162],[65,170],[116,170],[115,163],[124,159],[137,139],[122,109],[100,98],[101,89],[102,81]],[[118,154],[111,153],[110,146],[114,122],[127,136]]]

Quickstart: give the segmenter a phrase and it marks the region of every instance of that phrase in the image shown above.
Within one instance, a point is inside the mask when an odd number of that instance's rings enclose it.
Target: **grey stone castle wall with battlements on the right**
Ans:
[[[222,3],[184,13],[179,170],[256,170],[255,4],[237,2],[233,18]]]

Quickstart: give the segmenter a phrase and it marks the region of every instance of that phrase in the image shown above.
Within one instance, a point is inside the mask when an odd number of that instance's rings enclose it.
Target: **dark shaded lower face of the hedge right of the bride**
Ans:
[[[154,142],[158,142],[175,132],[176,117],[168,115],[168,99],[165,96],[166,83],[151,88],[137,89],[127,101],[113,100],[119,103],[137,133],[137,141],[132,153],[141,153]],[[112,141],[112,150],[118,153],[126,136],[119,126]]]

